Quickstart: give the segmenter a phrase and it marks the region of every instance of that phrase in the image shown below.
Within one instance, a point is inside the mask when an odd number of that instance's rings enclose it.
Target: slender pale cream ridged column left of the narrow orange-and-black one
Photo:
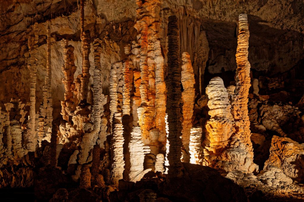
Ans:
[[[110,123],[112,127],[113,116],[117,113],[117,75],[116,75],[116,64],[112,63],[110,71]]]

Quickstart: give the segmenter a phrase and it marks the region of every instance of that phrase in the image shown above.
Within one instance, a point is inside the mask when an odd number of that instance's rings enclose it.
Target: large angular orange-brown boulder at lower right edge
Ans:
[[[275,166],[282,169],[293,180],[299,182],[304,179],[303,144],[299,144],[288,137],[274,135],[269,152],[270,155],[264,164],[264,169],[268,166]]]

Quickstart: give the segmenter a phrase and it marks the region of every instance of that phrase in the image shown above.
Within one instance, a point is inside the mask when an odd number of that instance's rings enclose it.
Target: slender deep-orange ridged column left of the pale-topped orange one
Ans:
[[[141,102],[148,104],[148,84],[149,84],[149,67],[148,67],[148,61],[147,61],[147,47],[148,47],[148,25],[146,22],[141,22],[141,37],[140,37],[140,77],[141,77],[141,83],[140,83],[140,97]]]

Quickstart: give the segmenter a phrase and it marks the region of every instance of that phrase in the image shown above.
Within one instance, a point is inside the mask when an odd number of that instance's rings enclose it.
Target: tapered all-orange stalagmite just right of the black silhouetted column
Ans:
[[[190,55],[187,52],[182,54],[183,65],[181,66],[181,84],[183,85],[183,92],[181,93],[181,99],[183,101],[183,117],[182,122],[182,143],[185,151],[183,151],[182,161],[189,163],[189,142],[190,142],[190,131],[192,128],[192,116],[194,107],[194,96],[195,96],[195,79],[193,68],[191,65]]]

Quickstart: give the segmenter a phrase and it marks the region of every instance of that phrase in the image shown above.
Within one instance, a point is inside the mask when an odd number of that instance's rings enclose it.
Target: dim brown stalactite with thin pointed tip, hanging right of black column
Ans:
[[[206,36],[206,31],[201,31],[199,33],[199,40],[201,41],[201,43],[199,45],[199,50],[197,53],[197,64],[199,68],[199,92],[202,95],[202,88],[204,84],[204,72],[209,56],[209,44]]]

